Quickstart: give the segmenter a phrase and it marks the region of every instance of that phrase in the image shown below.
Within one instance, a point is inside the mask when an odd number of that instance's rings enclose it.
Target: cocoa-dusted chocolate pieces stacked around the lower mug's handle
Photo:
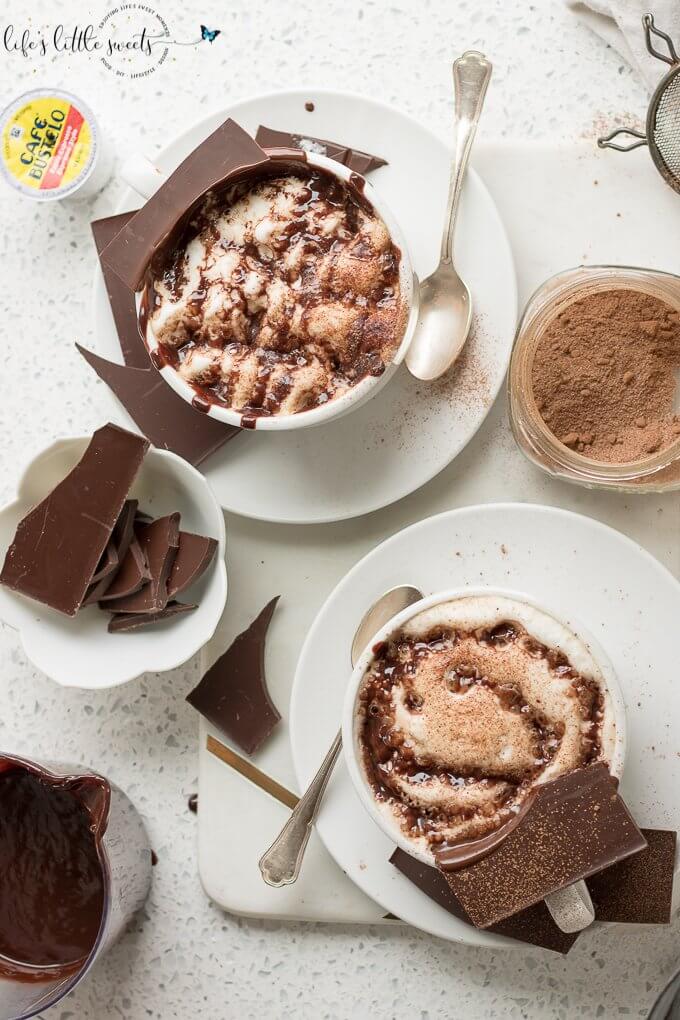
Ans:
[[[390,861],[456,917],[558,953],[569,952],[578,933],[562,931],[544,901],[581,879],[596,920],[669,923],[676,833],[639,829],[606,763],[537,786],[504,828],[435,851],[436,868],[401,850]]]

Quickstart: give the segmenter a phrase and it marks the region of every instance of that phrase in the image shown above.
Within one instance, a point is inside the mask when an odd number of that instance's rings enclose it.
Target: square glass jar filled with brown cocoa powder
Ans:
[[[579,266],[522,315],[510,421],[544,471],[592,489],[680,489],[680,276]]]

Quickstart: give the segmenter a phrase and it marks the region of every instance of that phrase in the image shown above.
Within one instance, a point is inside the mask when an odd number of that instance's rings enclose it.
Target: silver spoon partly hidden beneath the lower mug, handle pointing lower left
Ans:
[[[364,614],[357,627],[352,642],[352,665],[357,663],[362,652],[380,627],[384,626],[397,613],[401,613],[403,609],[412,606],[415,602],[420,602],[422,597],[422,592],[419,592],[417,588],[411,588],[410,584],[393,588],[381,595]],[[278,888],[280,885],[291,885],[297,880],[314,819],[342,744],[342,734],[338,732],[328,754],[321,762],[318,772],[293,809],[285,825],[269,850],[260,858],[260,872],[267,885]]]

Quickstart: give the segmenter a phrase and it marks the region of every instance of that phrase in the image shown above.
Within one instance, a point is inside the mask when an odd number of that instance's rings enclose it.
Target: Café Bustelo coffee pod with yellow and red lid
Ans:
[[[23,93],[0,114],[0,133],[2,174],[29,198],[45,202],[81,195],[86,182],[92,194],[105,183],[97,121],[68,92]]]

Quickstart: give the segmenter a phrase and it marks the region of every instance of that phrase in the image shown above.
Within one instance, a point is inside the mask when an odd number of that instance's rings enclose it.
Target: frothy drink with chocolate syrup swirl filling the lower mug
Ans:
[[[537,783],[616,757],[611,695],[583,641],[501,596],[441,602],[373,649],[355,755],[384,827],[417,856],[488,835]]]

